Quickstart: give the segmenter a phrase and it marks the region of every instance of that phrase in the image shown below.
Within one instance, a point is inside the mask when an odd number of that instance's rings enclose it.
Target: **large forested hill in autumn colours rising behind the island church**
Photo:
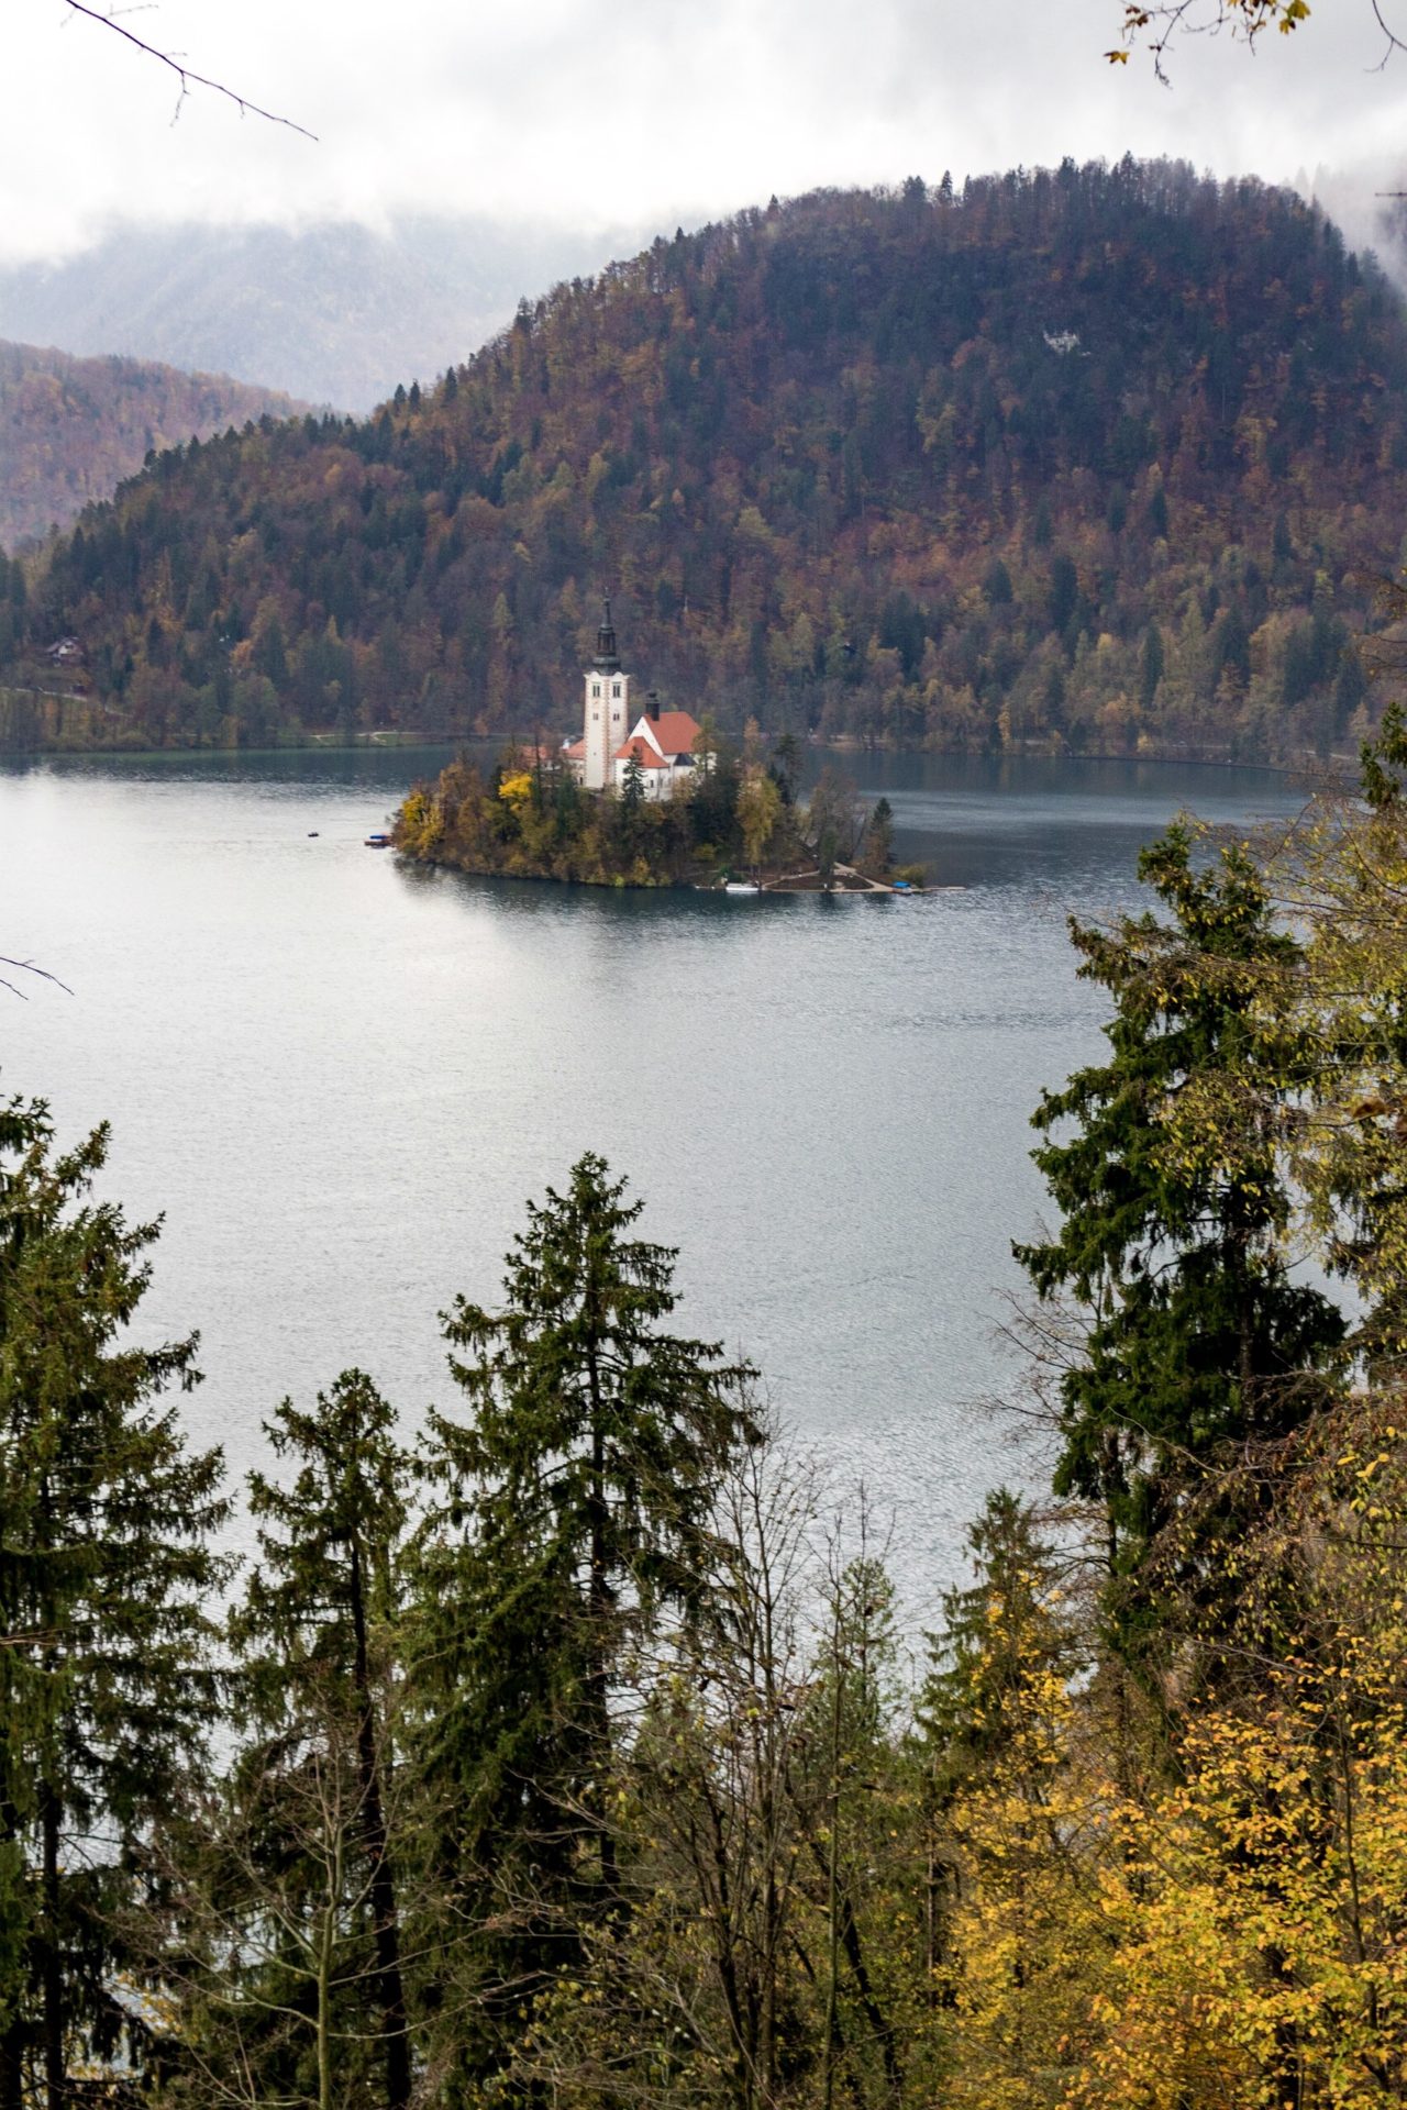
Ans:
[[[559,726],[610,591],[726,722],[1285,755],[1363,724],[1407,325],[1181,165],[823,192],[559,287],[367,422],[160,456],[11,580],[133,741]],[[21,606],[23,603],[23,606]]]

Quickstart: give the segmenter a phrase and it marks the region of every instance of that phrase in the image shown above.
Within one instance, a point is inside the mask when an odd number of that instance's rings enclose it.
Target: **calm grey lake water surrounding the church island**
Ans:
[[[610,895],[363,848],[435,753],[0,766],[0,1089],[110,1118],[110,1192],[165,1211],[148,1331],[198,1327],[188,1418],[259,1422],[359,1363],[449,1405],[437,1312],[494,1302],[525,1196],[599,1150],[681,1249],[679,1323],[747,1353],[928,1599],[983,1492],[1036,1462],[1002,1291],[1042,1190],[1027,1116],[1101,1047],[1065,914],[1137,897],[1179,806],[1293,812],[1259,770],[848,757],[924,899]],[[310,831],[316,829],[316,840]]]

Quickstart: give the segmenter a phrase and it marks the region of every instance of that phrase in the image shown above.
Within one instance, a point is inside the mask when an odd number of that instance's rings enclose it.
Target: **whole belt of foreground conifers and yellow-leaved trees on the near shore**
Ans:
[[[236,1490],[0,1108],[0,2110],[1405,2099],[1407,720],[1141,876],[930,1633],[591,1150],[416,1441],[329,1372]]]

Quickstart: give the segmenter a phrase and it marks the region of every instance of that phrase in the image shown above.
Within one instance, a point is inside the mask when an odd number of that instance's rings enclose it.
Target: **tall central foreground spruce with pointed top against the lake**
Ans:
[[[502,1308],[445,1319],[473,1418],[430,1422],[416,1690],[437,1867],[460,1922],[492,1929],[462,2068],[506,2057],[576,1931],[618,1905],[616,1677],[660,1616],[707,1614],[711,1504],[751,1435],[749,1369],[664,1331],[675,1253],[631,1236],[624,1186],[580,1158],[527,1205]]]

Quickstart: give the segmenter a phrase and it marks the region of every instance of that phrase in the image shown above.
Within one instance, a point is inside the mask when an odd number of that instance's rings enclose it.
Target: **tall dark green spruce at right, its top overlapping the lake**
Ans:
[[[1063,1222],[1015,1247],[1040,1298],[1072,1300],[1084,1321],[1059,1382],[1055,1488],[1105,1504],[1124,1578],[1228,1445],[1270,1443],[1325,1401],[1344,1340],[1342,1312],[1293,1279],[1285,1249],[1285,1112],[1312,1061],[1293,1023],[1299,943],[1240,846],[1196,863],[1179,823],[1139,876],[1171,922],[1072,922],[1080,975],[1114,998],[1110,1059],[1032,1116]],[[1204,1509],[1200,1528],[1240,1521]],[[1154,1595],[1116,1599],[1135,1650]]]

